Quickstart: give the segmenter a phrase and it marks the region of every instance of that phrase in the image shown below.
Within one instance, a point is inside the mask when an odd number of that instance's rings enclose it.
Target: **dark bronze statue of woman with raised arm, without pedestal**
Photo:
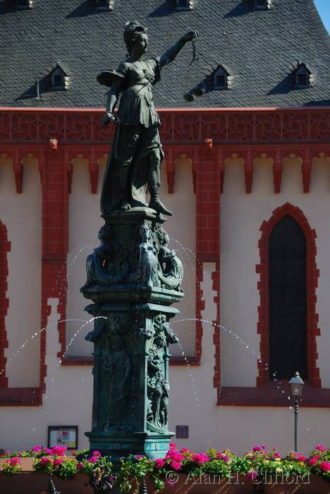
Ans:
[[[124,41],[128,58],[116,71],[103,71],[99,83],[111,88],[102,127],[116,123],[116,133],[104,173],[101,210],[103,215],[146,207],[145,193],[150,193],[149,207],[171,216],[159,200],[160,164],[164,152],[159,140],[159,116],[154,108],[152,86],[161,77],[161,68],[176,59],[188,41],[198,32],[189,31],[164,55],[144,60],[148,37],[146,28],[136,21],[126,23]],[[121,93],[118,115],[114,109]]]

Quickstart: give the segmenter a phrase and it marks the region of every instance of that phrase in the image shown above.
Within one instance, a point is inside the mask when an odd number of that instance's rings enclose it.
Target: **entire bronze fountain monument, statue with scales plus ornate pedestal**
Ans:
[[[87,281],[80,289],[92,301],[86,311],[95,318],[86,336],[94,344],[92,430],[86,435],[90,450],[115,463],[129,454],[164,456],[173,436],[169,344],[178,337],[170,320],[179,313],[172,304],[183,298],[183,265],[164,229],[171,212],[159,198],[164,153],[152,86],[185,43],[193,42],[196,60],[197,36],[187,32],[164,55],[147,59],[146,29],[126,23],[126,61],[97,76],[110,88],[102,127],[115,124],[116,132],[102,185],[105,224],[100,245],[87,257]]]

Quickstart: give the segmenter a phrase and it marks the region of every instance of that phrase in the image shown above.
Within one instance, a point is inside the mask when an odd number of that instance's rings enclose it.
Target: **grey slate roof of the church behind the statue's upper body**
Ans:
[[[252,0],[195,0],[175,11],[173,0],[115,0],[113,11],[95,11],[90,0],[34,0],[15,11],[0,0],[0,106],[104,107],[102,69],[126,56],[123,27],[139,20],[148,28],[149,56],[166,51],[187,30],[200,31],[200,67],[191,87],[220,64],[231,90],[211,90],[192,104],[183,100],[191,44],[162,71],[154,88],[157,107],[287,107],[330,105],[330,42],[313,0],[272,0],[255,11]],[[69,90],[46,91],[44,77],[60,61],[71,72]],[[314,87],[294,90],[293,68],[312,68]],[[40,80],[41,98],[35,99]],[[190,89],[190,88],[189,88]]]

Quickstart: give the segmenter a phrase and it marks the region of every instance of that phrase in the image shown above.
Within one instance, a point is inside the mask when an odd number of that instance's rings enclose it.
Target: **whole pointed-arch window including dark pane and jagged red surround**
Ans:
[[[321,387],[316,232],[302,210],[290,203],[277,207],[260,230],[257,386],[289,379],[298,370],[310,385]]]

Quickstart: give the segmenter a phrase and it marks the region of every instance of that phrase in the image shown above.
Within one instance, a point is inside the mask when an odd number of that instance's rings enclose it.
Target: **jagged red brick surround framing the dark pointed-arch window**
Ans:
[[[316,254],[317,248],[315,239],[317,234],[310,227],[307,218],[299,207],[289,203],[277,207],[273,215],[266,222],[262,223],[260,231],[262,236],[259,239],[260,264],[256,266],[259,274],[257,288],[260,294],[260,305],[258,307],[259,321],[257,332],[260,335],[260,360],[258,361],[259,375],[257,377],[257,387],[264,386],[269,382],[267,363],[269,363],[269,237],[275,225],[286,215],[295,219],[306,236],[307,242],[307,368],[310,385],[321,387],[319,378],[319,368],[317,367],[317,339],[320,335],[318,327],[319,315],[316,312],[317,303],[317,279],[319,270],[317,269]]]

